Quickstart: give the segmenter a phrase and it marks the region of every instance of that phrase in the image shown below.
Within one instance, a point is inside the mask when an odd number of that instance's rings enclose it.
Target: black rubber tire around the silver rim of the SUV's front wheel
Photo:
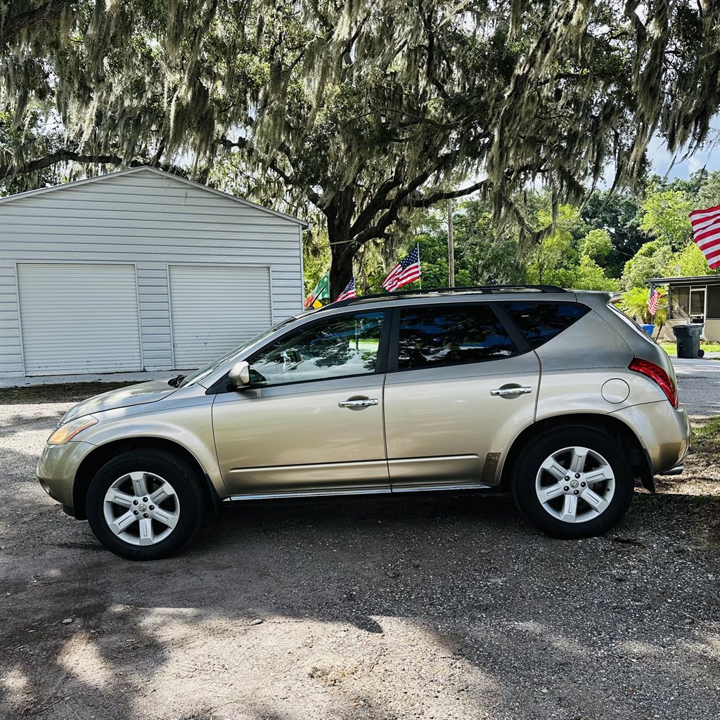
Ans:
[[[161,500],[161,502],[171,503],[171,510],[174,511],[177,508],[178,513],[176,525],[169,528],[169,534],[166,537],[155,544],[144,546],[132,544],[114,534],[105,517],[104,503],[110,487],[120,478],[137,472],[154,474],[166,480],[174,490],[174,496],[170,496],[164,501]],[[147,482],[157,481],[148,480]],[[183,459],[168,451],[140,449],[124,452],[104,464],[90,483],[86,500],[88,522],[96,538],[110,552],[114,552],[120,557],[128,560],[156,560],[168,557],[184,546],[202,524],[204,503],[199,482],[197,472],[194,472]],[[140,502],[142,503],[142,498],[140,498]],[[148,508],[150,507],[153,506],[148,505]],[[135,513],[133,508],[129,509]],[[153,511],[154,509],[153,507]],[[122,508],[119,508],[118,513],[122,513]],[[150,518],[150,523],[158,526],[157,521],[153,518]],[[130,536],[132,526],[128,527],[130,529],[127,536]],[[161,532],[168,529],[162,524],[159,524],[158,527],[161,528]],[[158,533],[159,535],[160,533]]]

